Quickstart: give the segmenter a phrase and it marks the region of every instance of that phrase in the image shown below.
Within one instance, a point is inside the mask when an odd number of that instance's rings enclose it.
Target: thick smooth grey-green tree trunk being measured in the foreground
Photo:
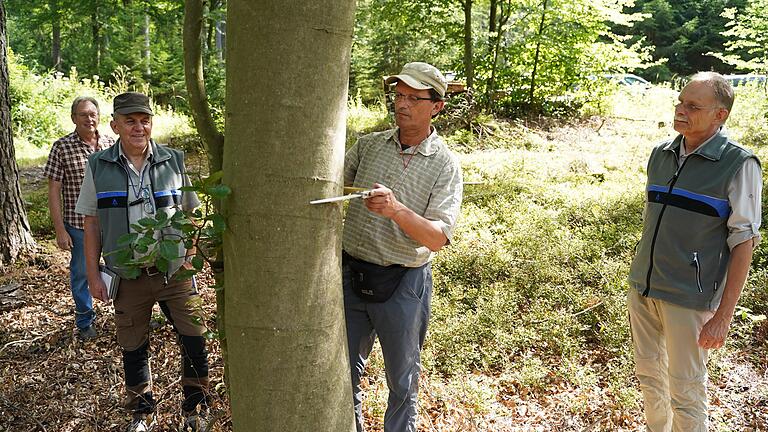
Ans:
[[[354,0],[228,2],[226,330],[235,431],[355,429],[341,282]]]

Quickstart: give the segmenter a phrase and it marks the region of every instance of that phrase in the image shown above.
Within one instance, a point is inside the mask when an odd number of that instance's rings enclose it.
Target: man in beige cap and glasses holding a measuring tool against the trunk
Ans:
[[[420,354],[432,298],[434,253],[450,244],[462,197],[461,167],[432,126],[447,82],[408,63],[386,84],[397,127],[360,138],[344,159],[344,185],[370,189],[344,222],[343,281],[357,430],[360,377],[378,336],[389,386],[386,432],[417,430]]]

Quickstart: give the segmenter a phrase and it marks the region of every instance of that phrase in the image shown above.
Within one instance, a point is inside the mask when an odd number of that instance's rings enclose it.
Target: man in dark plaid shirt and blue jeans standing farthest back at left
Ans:
[[[75,204],[80,195],[88,155],[111,146],[115,141],[99,134],[100,112],[96,99],[87,96],[75,98],[71,114],[75,131],[53,143],[45,164],[45,175],[48,177],[48,208],[56,229],[56,244],[72,253],[69,281],[75,300],[75,325],[80,338],[88,340],[96,337],[92,326],[96,314],[85,276],[83,216],[75,213]]]

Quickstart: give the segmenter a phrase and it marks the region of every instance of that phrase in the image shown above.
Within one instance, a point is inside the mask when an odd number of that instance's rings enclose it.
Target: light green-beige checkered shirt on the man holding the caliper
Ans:
[[[418,148],[402,150],[398,136],[398,129],[391,129],[360,138],[344,158],[344,184],[387,186],[403,205],[439,222],[450,243],[462,198],[459,161],[434,130]],[[392,219],[369,211],[363,200],[349,204],[342,243],[350,255],[379,265],[418,267],[433,256]]]

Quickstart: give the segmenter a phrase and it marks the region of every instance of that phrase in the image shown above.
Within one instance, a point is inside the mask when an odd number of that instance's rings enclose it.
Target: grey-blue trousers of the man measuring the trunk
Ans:
[[[348,266],[343,266],[342,275],[357,431],[363,431],[360,377],[378,336],[389,387],[384,431],[416,432],[421,347],[432,301],[432,267],[426,264],[410,269],[384,303],[366,303],[355,294]]]

